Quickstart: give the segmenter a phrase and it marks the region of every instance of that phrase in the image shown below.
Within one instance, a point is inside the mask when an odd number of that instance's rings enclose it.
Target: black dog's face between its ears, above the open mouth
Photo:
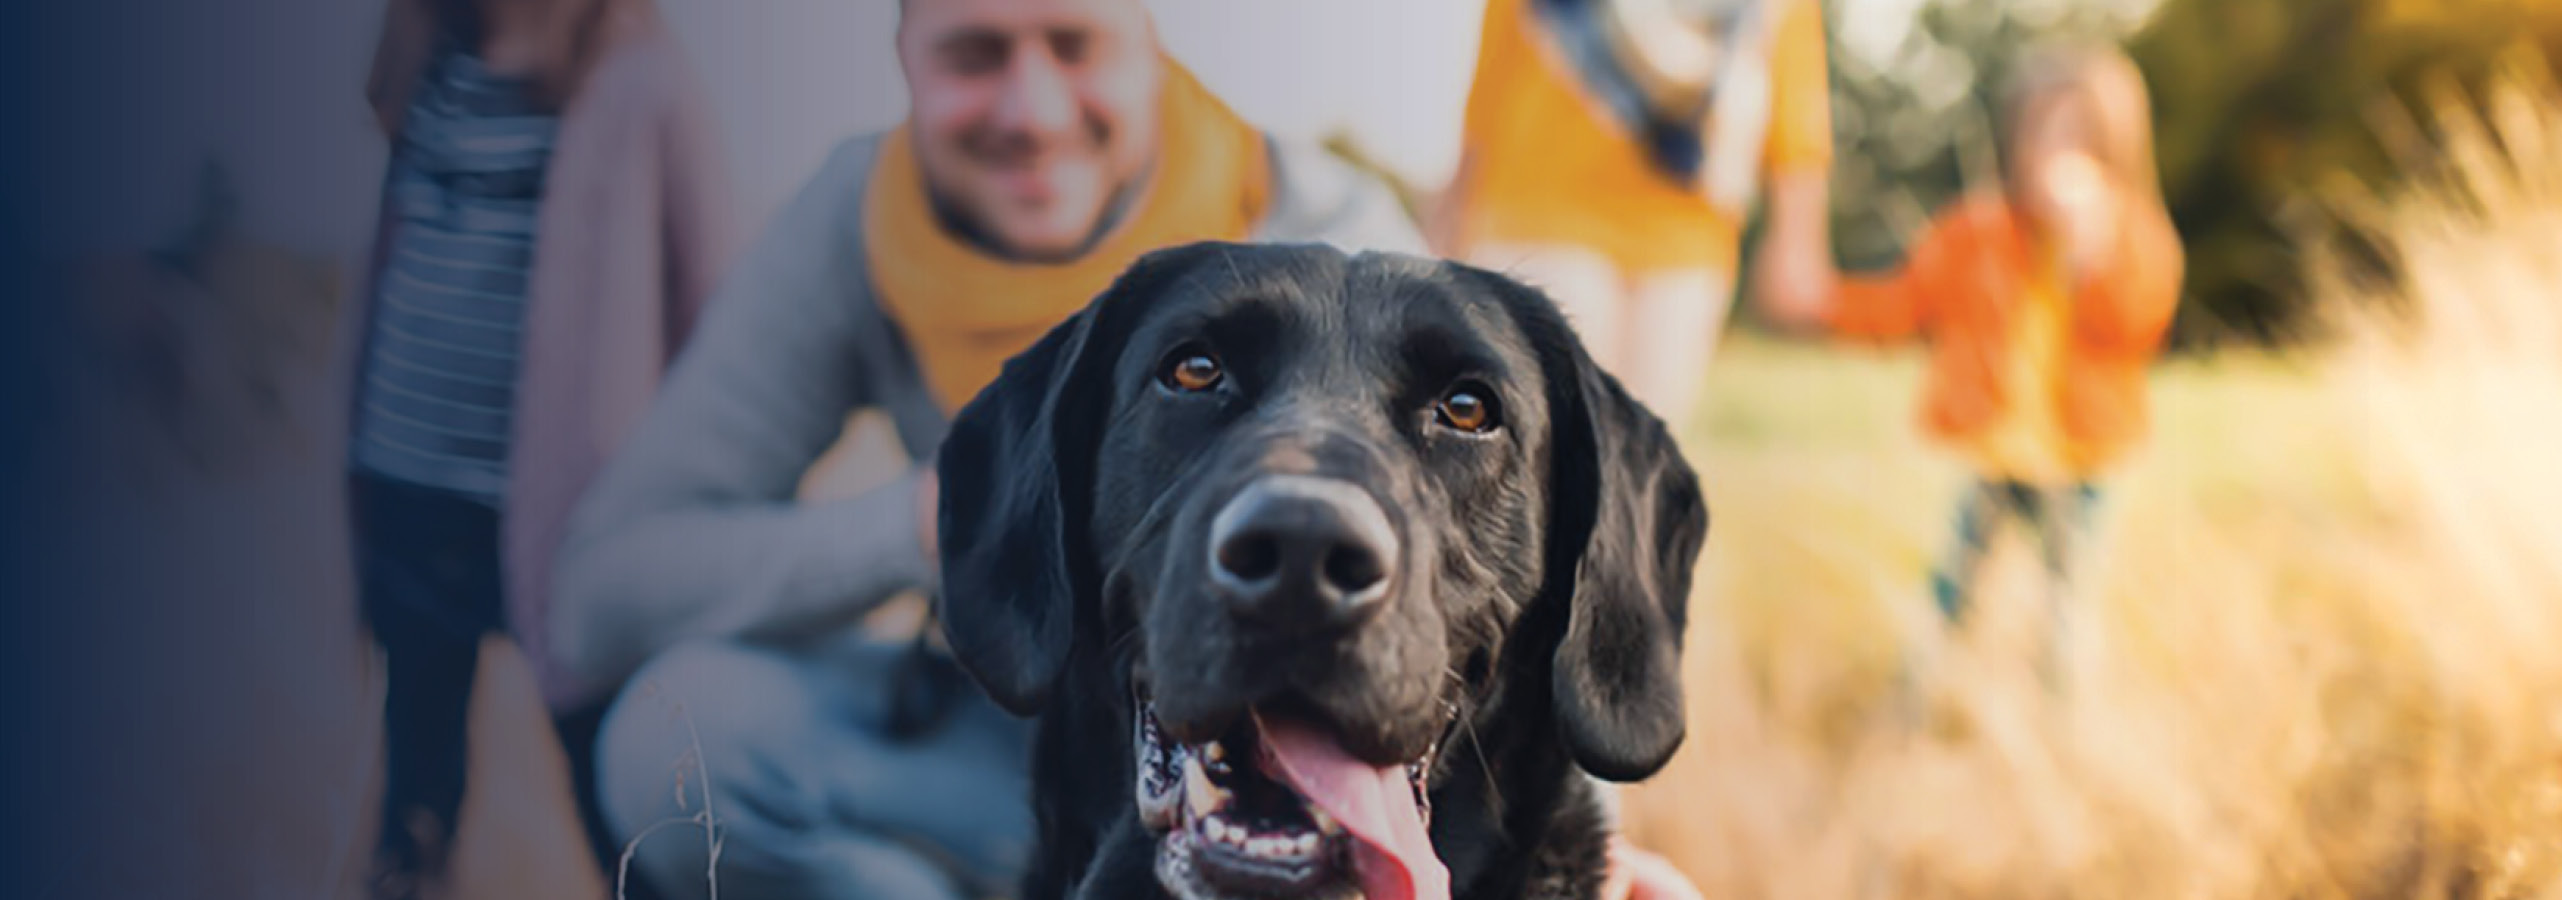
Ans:
[[[1089,533],[1173,741],[1291,703],[1353,756],[1422,759],[1537,595],[1540,359],[1427,272],[1212,264],[1130,331]]]

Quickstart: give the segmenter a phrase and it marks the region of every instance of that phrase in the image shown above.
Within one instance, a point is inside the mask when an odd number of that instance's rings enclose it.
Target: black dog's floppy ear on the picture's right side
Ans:
[[[1635,782],[1681,749],[1681,631],[1709,533],[1699,477],[1663,421],[1583,351],[1555,305],[1496,274],[1540,354],[1550,405],[1547,587],[1565,608],[1550,669],[1586,772]]]

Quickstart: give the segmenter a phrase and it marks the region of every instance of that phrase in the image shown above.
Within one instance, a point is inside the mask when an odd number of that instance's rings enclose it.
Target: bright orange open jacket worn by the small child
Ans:
[[[2062,372],[2052,374],[2055,413],[2091,467],[2144,436],[2144,364],[2160,354],[2180,295],[2180,241],[2167,221],[2129,218],[2106,269],[2075,279]],[[1932,359],[1921,423],[1942,441],[1965,444],[2016,400],[2003,395],[2001,372],[2011,310],[2037,272],[2037,249],[2003,197],[1962,200],[1914,241],[1901,272],[1845,282],[1829,326],[1868,338],[1927,336]]]

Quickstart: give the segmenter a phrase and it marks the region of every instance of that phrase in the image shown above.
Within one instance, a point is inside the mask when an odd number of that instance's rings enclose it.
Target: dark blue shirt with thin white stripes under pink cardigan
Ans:
[[[523,79],[443,54],[400,128],[384,187],[359,469],[497,503],[507,490],[525,287],[556,115]]]

